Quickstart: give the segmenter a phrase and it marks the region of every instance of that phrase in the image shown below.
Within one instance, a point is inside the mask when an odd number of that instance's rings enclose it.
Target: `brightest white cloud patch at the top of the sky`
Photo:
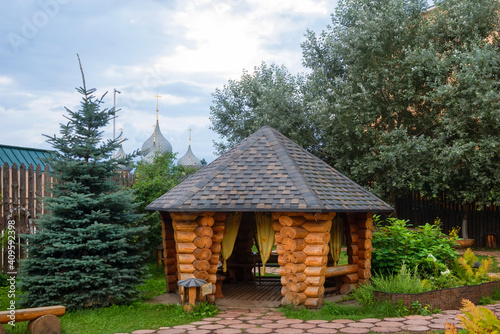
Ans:
[[[297,21],[304,14],[325,15],[324,1],[250,0],[246,9],[235,8],[232,2],[195,1],[174,13],[165,30],[176,26],[183,38],[168,55],[155,61],[160,72],[210,72],[225,78],[239,76],[262,61],[300,64],[300,41],[292,49],[274,52],[269,45],[283,43],[281,35],[299,29]]]

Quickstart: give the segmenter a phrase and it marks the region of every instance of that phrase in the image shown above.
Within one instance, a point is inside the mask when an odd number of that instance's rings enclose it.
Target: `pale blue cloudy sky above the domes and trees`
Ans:
[[[304,72],[300,44],[331,22],[332,0],[16,0],[0,3],[0,144],[51,149],[82,86],[120,109],[126,153],[160,129],[183,156],[216,158],[212,93],[262,62]],[[114,93],[114,90],[121,93]],[[104,138],[113,136],[113,123]]]

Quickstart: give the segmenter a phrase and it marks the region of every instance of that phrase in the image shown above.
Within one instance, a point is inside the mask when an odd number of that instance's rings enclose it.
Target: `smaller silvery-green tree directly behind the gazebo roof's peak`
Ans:
[[[229,80],[223,89],[216,89],[211,128],[227,141],[215,143],[218,153],[264,125],[312,149],[315,142],[303,112],[302,81],[301,75],[291,75],[284,66],[262,63],[253,73],[245,71],[240,80]]]

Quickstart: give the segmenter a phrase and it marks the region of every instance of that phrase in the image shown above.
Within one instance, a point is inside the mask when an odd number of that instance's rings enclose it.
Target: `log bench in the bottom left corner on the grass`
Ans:
[[[14,320],[15,323],[29,321],[28,331],[30,333],[60,334],[61,321],[58,317],[64,313],[66,313],[66,307],[61,305],[2,311],[0,312],[0,324],[8,324]],[[3,325],[0,325],[0,334],[5,334]]]

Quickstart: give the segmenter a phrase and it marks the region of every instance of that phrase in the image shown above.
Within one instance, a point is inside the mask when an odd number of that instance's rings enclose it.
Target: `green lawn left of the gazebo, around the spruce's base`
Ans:
[[[62,334],[112,334],[139,329],[158,329],[199,321],[217,312],[215,306],[201,305],[195,312],[186,313],[178,305],[151,305],[145,303],[166,292],[163,268],[149,265],[149,277],[138,290],[141,297],[130,305],[113,305],[98,309],[68,311],[61,319]],[[7,288],[0,289],[0,307],[5,310],[9,300]],[[7,334],[26,334],[27,322],[5,325]]]

